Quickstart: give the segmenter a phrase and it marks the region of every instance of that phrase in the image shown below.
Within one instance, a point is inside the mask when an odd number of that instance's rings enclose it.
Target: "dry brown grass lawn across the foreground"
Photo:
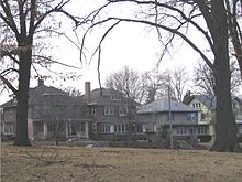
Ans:
[[[1,143],[2,182],[239,182],[242,154]]]

